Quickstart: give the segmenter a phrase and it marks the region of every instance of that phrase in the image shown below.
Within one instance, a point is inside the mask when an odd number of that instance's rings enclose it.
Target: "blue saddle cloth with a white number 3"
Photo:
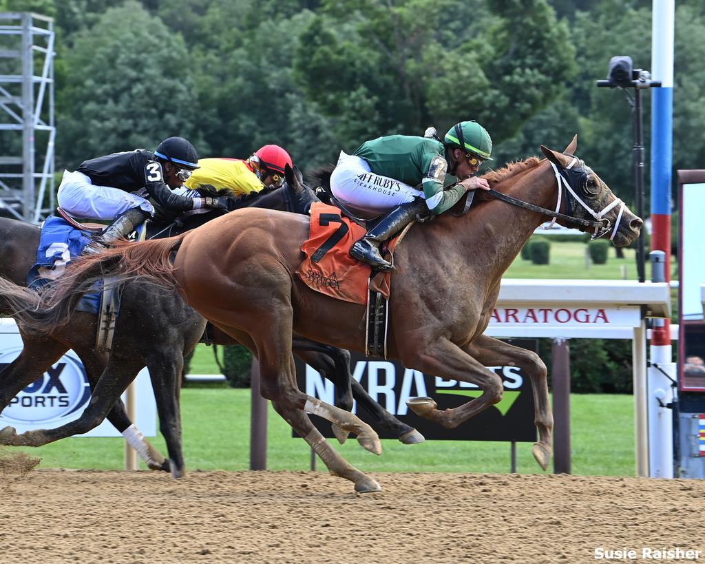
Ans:
[[[38,289],[61,276],[61,270],[73,257],[78,257],[88,243],[90,235],[86,231],[76,229],[61,217],[47,217],[39,235],[37,262],[27,273],[27,286]],[[76,309],[97,314],[99,307],[100,292],[97,291],[85,294]]]

